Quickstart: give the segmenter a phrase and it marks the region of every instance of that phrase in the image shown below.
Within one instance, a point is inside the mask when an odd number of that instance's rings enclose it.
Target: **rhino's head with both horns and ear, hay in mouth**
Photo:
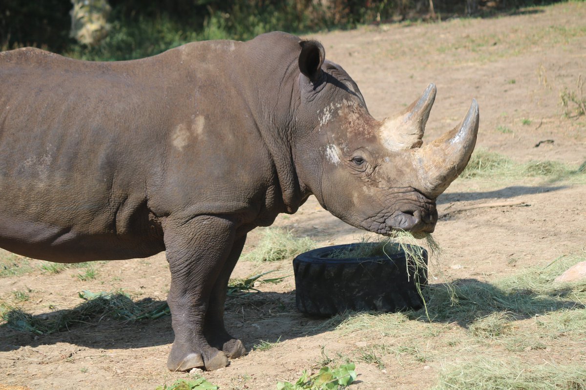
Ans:
[[[300,180],[323,208],[360,229],[433,232],[435,201],[464,170],[476,143],[476,101],[458,126],[423,146],[434,84],[403,112],[379,121],[352,78],[325,60],[319,42],[300,45],[296,120],[310,128],[297,144]]]

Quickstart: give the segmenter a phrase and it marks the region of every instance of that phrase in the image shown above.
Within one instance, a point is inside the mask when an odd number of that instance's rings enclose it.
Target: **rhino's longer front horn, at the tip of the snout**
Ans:
[[[435,199],[464,171],[476,145],[479,123],[478,103],[472,100],[462,122],[453,130],[421,149],[414,150],[420,191]]]

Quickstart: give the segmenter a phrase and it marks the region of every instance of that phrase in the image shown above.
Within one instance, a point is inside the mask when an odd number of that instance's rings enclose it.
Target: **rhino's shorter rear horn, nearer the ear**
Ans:
[[[435,84],[431,83],[421,97],[411,103],[394,118],[383,120],[380,135],[389,150],[407,150],[420,147],[425,132],[425,123],[430,118],[431,106],[435,101]]]

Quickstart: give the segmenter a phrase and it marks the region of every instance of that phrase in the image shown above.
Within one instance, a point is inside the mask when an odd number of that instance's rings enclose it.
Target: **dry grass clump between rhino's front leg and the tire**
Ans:
[[[257,247],[241,258],[251,261],[293,260],[298,254],[315,249],[309,237],[297,238],[289,230],[264,229]]]

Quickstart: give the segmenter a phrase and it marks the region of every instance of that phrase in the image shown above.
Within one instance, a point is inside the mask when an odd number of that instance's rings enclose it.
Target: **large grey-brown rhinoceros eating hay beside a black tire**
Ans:
[[[309,195],[369,232],[432,232],[435,200],[478,133],[422,146],[430,84],[382,121],[315,40],[287,33],[189,43],[141,60],[0,54],[0,246],[59,263],[166,251],[170,370],[246,353],[224,327],[250,230]]]

